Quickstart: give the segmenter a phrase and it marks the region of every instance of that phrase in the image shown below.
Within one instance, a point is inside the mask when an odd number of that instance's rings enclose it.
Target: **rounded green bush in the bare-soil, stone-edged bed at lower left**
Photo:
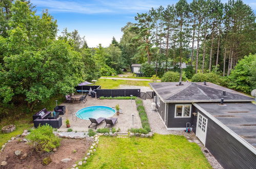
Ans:
[[[53,134],[52,126],[40,125],[26,136],[37,152],[51,152],[55,147],[60,146],[60,138]]]

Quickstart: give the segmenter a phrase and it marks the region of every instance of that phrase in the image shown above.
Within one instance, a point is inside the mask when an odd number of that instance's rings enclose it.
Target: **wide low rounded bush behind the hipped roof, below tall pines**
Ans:
[[[215,73],[196,73],[193,75],[191,81],[203,82],[208,81],[215,83],[216,85],[222,85],[222,77]]]

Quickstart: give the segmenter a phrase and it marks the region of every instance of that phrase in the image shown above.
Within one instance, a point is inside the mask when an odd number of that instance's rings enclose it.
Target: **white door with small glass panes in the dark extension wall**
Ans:
[[[196,137],[198,137],[204,145],[206,140],[207,121],[208,119],[198,112],[198,120],[196,122]]]

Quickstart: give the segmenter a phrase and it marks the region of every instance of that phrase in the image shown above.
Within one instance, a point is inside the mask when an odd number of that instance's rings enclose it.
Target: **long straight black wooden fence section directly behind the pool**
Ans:
[[[141,89],[97,89],[97,98],[104,97],[118,97],[118,96],[136,96],[140,97]]]

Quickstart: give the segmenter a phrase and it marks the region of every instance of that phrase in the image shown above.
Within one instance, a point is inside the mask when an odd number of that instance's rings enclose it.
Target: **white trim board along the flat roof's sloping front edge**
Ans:
[[[206,112],[203,108],[200,107],[200,105],[196,103],[192,103],[196,108],[198,108],[201,112],[203,112],[206,116],[208,116],[212,121],[214,121],[216,124],[220,125],[221,128],[223,128],[226,132],[228,132],[231,136],[233,136],[235,139],[237,139],[239,142],[241,142],[244,146],[247,147],[252,153],[256,155],[256,149],[249,144],[247,141],[245,141],[242,137],[240,137],[237,133],[233,132],[231,129],[229,129],[225,124],[223,124],[221,121],[213,117],[210,113]]]

